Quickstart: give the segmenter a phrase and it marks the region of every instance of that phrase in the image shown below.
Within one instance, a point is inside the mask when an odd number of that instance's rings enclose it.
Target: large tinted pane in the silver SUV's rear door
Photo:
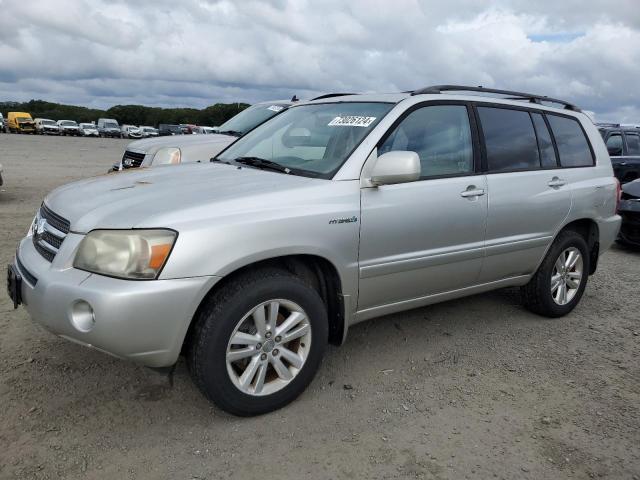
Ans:
[[[528,112],[505,108],[478,108],[487,147],[489,171],[540,167],[538,144]]]

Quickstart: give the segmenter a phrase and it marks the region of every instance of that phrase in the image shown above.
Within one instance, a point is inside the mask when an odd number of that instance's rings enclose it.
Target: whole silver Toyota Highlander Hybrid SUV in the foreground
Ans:
[[[473,90],[300,103],[212,162],[58,188],[11,297],[121,358],[183,353],[237,415],[291,402],[363,320],[514,286],[565,315],[620,225],[605,145],[570,104]]]

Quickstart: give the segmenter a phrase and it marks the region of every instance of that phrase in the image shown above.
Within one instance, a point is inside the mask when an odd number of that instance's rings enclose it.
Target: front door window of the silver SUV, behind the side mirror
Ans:
[[[473,172],[467,107],[437,105],[414,110],[391,132],[378,155],[396,150],[418,154],[423,178]]]

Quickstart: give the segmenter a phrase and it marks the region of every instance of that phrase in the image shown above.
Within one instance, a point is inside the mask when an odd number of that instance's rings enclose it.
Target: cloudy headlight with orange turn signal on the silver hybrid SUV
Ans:
[[[177,236],[173,230],[94,230],[80,242],[73,266],[112,277],[153,280]]]

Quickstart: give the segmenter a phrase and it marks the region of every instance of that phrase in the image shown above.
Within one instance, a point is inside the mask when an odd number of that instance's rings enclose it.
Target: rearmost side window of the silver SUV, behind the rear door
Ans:
[[[557,115],[547,115],[551,131],[556,139],[560,165],[563,167],[587,167],[593,165],[593,156],[587,138],[577,120]]]

